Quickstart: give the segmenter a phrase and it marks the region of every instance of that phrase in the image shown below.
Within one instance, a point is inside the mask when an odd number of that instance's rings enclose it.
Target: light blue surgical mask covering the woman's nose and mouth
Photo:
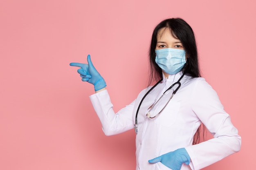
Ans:
[[[185,50],[168,48],[155,50],[155,53],[155,62],[169,75],[178,73],[186,64]]]

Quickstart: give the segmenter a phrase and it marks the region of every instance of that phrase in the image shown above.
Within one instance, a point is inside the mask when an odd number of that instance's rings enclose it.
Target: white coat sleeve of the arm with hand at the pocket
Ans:
[[[213,135],[213,139],[186,147],[193,168],[202,169],[240,150],[241,137],[231,123],[216,91],[199,79],[191,93],[191,109]]]

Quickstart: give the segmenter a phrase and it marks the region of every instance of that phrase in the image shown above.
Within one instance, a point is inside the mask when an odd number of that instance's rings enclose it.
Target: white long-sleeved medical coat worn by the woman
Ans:
[[[240,150],[241,137],[231,123],[216,91],[204,78],[184,76],[181,87],[155,119],[146,117],[148,108],[164,91],[181,77],[182,72],[163,79],[144,99],[137,117],[136,170],[170,170],[161,162],[148,163],[148,160],[185,148],[191,157],[189,165],[182,164],[181,170],[199,170]],[[135,115],[142,97],[150,88],[139,93],[137,99],[115,113],[108,91],[90,96],[90,100],[106,135],[116,135],[134,128]],[[163,108],[165,102],[159,102]],[[151,117],[159,110],[153,107]],[[157,112],[157,111],[156,111]],[[193,136],[203,123],[213,139],[192,145]]]

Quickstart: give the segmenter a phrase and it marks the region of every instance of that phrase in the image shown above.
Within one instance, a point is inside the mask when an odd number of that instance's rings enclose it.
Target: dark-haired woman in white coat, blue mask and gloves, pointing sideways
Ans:
[[[115,113],[106,82],[90,55],[81,67],[82,81],[94,85],[90,96],[106,135],[135,128],[136,170],[199,170],[240,150],[241,138],[213,88],[200,77],[193,30],[184,20],[170,18],[153,31],[150,45],[151,81],[137,99]],[[201,124],[213,139],[195,142]],[[193,142],[194,141],[194,142]]]

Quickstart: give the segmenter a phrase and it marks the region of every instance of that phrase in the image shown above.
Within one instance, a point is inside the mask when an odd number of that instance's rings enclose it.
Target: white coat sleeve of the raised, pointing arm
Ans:
[[[135,101],[115,113],[107,90],[95,93],[89,97],[101,121],[102,130],[105,135],[116,135],[133,128],[132,112]]]

